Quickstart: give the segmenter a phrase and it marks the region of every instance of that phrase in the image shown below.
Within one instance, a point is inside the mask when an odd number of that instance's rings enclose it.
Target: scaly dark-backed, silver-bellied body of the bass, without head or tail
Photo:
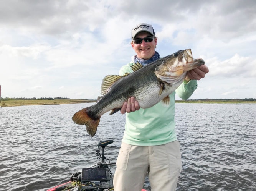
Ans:
[[[160,82],[154,74],[155,68],[145,69],[147,68],[144,66],[113,84],[111,91],[102,96],[93,106],[95,114],[101,116],[110,110],[121,108],[128,97],[132,96],[140,103],[141,108],[149,108],[152,103],[159,102],[158,96],[155,95],[159,92]],[[157,92],[157,94],[152,94],[152,92]],[[114,107],[113,103],[115,103]]]

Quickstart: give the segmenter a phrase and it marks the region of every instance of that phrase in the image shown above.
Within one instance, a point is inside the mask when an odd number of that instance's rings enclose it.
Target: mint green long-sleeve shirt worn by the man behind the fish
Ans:
[[[133,62],[128,63],[119,71],[119,75],[131,73]],[[162,101],[153,107],[126,113],[126,125],[122,142],[131,145],[153,146],[166,144],[177,140],[175,132],[175,94],[182,99],[188,99],[197,89],[197,80],[184,82],[169,95],[170,104]]]

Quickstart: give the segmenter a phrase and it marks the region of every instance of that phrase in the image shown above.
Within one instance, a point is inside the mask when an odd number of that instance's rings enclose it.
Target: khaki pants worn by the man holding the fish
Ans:
[[[180,143],[158,146],[122,143],[116,167],[115,191],[141,191],[147,174],[151,191],[175,191],[181,171]]]

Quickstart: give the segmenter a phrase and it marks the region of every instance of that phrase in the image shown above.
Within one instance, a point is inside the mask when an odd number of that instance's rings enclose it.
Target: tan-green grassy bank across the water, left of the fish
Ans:
[[[89,102],[96,102],[96,100],[87,100],[87,99],[8,100],[8,101],[1,101],[0,106],[11,107],[11,106],[21,106],[21,105],[58,105],[58,104],[79,104],[79,103],[89,103]]]

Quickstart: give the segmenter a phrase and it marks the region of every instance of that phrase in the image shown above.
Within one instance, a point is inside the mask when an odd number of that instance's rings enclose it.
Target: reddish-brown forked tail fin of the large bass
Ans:
[[[101,117],[92,117],[89,112],[89,107],[83,108],[80,111],[76,112],[72,120],[78,125],[85,125],[87,133],[93,137],[97,131],[99,121]]]

